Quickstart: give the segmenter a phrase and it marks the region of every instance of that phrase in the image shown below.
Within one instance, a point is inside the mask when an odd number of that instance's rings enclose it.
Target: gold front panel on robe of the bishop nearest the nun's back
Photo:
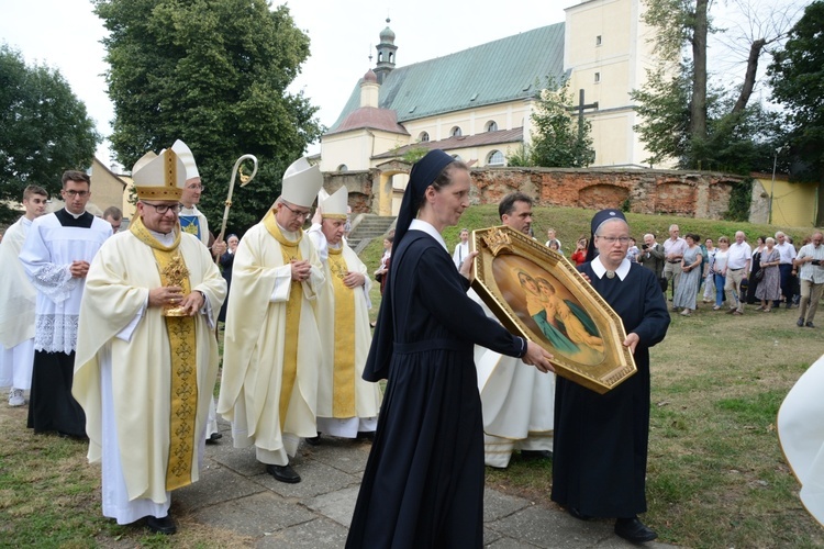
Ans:
[[[329,248],[329,269],[335,292],[335,348],[332,416],[354,417],[355,413],[355,292],[346,288],[348,272],[343,248]]]

